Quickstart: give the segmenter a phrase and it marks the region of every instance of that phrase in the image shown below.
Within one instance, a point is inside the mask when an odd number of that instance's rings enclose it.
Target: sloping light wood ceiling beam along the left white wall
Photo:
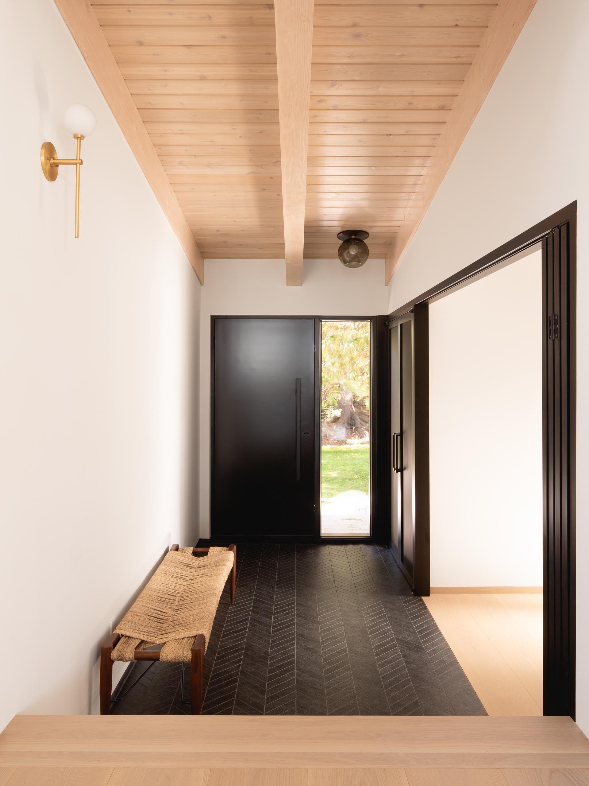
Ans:
[[[203,256],[88,0],[55,0],[201,284]]]

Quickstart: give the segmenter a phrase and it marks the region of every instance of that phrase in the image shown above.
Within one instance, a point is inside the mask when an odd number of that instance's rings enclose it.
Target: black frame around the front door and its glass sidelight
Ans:
[[[223,319],[313,319],[315,321],[315,537],[321,543],[386,543],[390,533],[390,428],[389,428],[389,358],[386,316],[315,314],[214,314],[210,318],[210,538],[199,544],[219,542],[214,534],[214,335],[215,321]],[[367,538],[321,538],[321,321],[368,321],[371,323],[371,533]],[[378,423],[378,428],[377,424]],[[233,538],[235,541],[236,538]],[[261,542],[264,538],[238,538],[240,542]],[[304,538],[302,542],[309,542]]]

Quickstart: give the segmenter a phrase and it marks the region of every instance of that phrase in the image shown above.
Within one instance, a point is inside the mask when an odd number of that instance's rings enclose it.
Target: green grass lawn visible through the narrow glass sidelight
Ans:
[[[368,494],[370,447],[360,445],[325,445],[321,447],[321,501],[342,491]]]

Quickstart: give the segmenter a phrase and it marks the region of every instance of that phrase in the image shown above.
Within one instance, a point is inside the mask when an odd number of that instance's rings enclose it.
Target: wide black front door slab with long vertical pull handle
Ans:
[[[314,320],[214,318],[212,538],[313,538]]]

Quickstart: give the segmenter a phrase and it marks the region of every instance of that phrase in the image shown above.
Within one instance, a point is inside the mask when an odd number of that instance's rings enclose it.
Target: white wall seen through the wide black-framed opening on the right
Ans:
[[[430,305],[431,586],[542,586],[535,251]]]

